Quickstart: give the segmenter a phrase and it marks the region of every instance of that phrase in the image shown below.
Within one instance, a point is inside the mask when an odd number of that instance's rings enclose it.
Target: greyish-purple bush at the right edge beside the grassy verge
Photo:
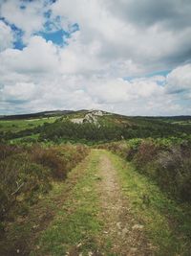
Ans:
[[[188,153],[188,151],[187,151]],[[159,153],[156,176],[159,186],[182,201],[191,201],[191,154],[184,154],[180,147]]]

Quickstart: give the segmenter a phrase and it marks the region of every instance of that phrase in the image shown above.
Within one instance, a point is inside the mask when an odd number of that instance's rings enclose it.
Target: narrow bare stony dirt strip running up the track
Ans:
[[[111,160],[103,153],[99,163],[102,218],[105,221],[103,244],[112,240],[114,255],[152,255],[144,235],[144,226],[136,222],[128,211],[128,200],[122,190]]]

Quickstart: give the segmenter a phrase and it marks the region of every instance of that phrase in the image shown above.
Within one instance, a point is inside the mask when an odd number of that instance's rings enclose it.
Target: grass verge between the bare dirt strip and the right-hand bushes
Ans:
[[[139,175],[130,163],[111,152],[108,155],[117,169],[130,211],[144,225],[156,255],[190,255],[190,207],[166,198],[156,184]]]

